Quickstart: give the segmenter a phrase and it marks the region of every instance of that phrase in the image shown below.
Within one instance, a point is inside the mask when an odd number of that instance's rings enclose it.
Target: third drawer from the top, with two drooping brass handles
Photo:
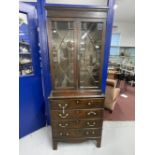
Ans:
[[[102,121],[102,119],[52,121],[52,127],[55,129],[102,128]]]

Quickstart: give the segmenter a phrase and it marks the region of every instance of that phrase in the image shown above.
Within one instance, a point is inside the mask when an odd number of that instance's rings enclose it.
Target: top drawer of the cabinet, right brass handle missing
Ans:
[[[50,100],[52,110],[103,108],[104,98]]]

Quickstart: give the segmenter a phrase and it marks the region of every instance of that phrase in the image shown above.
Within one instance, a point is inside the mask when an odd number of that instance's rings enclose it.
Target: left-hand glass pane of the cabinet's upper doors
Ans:
[[[68,21],[52,22],[50,56],[53,62],[55,87],[74,87],[75,39],[74,23]]]

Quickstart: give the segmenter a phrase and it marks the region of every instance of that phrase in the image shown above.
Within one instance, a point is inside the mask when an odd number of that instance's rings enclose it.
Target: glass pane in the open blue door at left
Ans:
[[[19,74],[33,74],[27,15],[19,13]]]

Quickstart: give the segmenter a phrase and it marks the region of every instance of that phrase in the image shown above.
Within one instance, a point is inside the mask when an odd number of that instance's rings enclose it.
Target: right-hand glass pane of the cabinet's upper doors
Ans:
[[[82,22],[79,49],[80,87],[99,87],[103,23]]]

